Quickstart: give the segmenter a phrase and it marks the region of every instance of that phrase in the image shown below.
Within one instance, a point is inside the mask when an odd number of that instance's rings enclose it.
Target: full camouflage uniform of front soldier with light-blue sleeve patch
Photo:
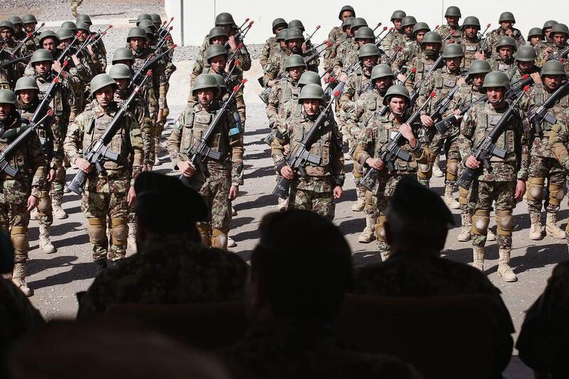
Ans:
[[[218,110],[218,102],[208,110],[200,103],[186,105],[166,144],[175,169],[179,161],[191,158],[192,147],[199,142]],[[192,188],[201,193],[211,210],[210,222],[198,223],[202,242],[225,249],[231,221],[231,202],[228,201],[230,186],[243,184],[243,141],[233,114],[223,115],[209,146],[220,152],[220,160],[207,159],[206,172],[196,167],[188,181]]]

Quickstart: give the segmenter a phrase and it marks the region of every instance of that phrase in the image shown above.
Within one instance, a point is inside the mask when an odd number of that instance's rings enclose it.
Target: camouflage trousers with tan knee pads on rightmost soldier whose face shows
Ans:
[[[548,213],[557,213],[565,196],[563,193],[565,170],[555,158],[532,155],[530,157],[527,190],[528,212],[532,223],[536,223],[540,219],[543,187],[546,179],[549,196],[546,198],[545,208]]]

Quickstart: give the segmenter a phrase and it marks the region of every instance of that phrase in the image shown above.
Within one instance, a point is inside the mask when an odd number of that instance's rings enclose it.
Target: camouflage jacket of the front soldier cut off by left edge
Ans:
[[[9,119],[0,122],[0,152],[4,151],[14,139],[18,138],[27,129],[27,126],[28,121],[21,119],[18,112],[13,112]],[[29,196],[31,183],[31,194],[39,198],[40,188],[46,181],[44,172],[46,156],[43,154],[38,134],[28,134],[28,137],[16,147],[12,154],[6,156],[6,161],[18,172],[12,178],[4,171],[0,171],[0,187],[4,188],[3,191],[14,191],[13,183],[17,182],[26,188]]]

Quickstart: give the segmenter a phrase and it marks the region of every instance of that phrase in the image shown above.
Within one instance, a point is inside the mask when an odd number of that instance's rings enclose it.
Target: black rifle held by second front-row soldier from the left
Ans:
[[[109,126],[107,129],[105,129],[105,132],[103,132],[100,138],[95,139],[85,150],[85,159],[90,164],[95,166],[95,169],[98,173],[105,172],[105,168],[102,166],[103,161],[110,160],[116,162],[117,159],[119,159],[119,154],[115,153],[115,151],[111,151],[107,147],[107,144],[111,142],[112,138],[115,137],[115,134],[117,134],[121,128],[120,122],[124,117],[124,114],[128,112],[130,105],[132,105],[132,102],[134,102],[140,90],[142,90],[142,85],[146,80],[148,80],[148,78],[150,78],[151,75],[152,71],[149,70],[140,85],[134,88],[134,91],[132,91],[132,94],[129,96],[127,101],[124,102],[124,105],[122,105],[122,107],[118,110],[117,114],[115,114],[115,117],[112,118]],[[68,188],[70,191],[73,191],[78,195],[83,193],[83,188],[85,188],[85,181],[87,181],[87,175],[88,174],[85,174],[83,171],[78,171],[71,183],[69,183]]]

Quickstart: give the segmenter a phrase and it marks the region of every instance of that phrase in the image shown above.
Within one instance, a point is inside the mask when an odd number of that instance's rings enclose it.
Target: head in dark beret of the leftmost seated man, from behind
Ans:
[[[196,222],[208,218],[201,195],[174,176],[143,172],[134,183],[137,236],[189,235],[200,240]]]

